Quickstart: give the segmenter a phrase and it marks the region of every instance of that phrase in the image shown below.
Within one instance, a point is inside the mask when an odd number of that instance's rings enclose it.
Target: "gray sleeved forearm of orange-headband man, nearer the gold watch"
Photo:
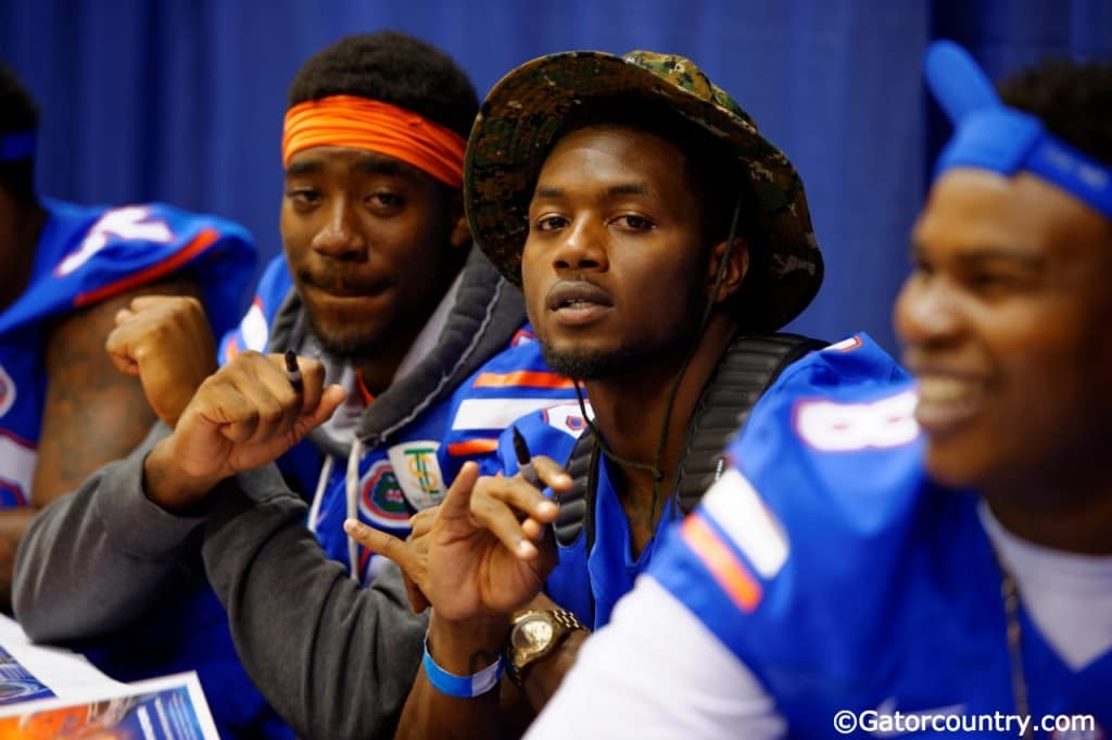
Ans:
[[[369,589],[329,560],[292,494],[229,492],[202,555],[248,675],[304,738],[389,738],[417,675],[427,616],[400,571]]]

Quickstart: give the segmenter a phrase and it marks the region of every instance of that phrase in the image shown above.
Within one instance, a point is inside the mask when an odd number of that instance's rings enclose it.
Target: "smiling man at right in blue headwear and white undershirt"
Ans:
[[[1112,731],[1112,66],[926,70],[914,377],[864,337],[788,369],[530,738]]]

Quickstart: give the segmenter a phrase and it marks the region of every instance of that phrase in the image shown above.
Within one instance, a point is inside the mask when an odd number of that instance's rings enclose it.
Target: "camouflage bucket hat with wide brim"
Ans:
[[[735,304],[738,318],[752,332],[792,320],[823,280],[803,181],[733,98],[674,55],[570,51],[534,59],[504,77],[479,109],[464,159],[464,203],[479,247],[520,287],[529,200],[565,117],[593,100],[631,95],[663,102],[736,152],[738,175],[747,176],[756,205],[747,215],[749,272]]]

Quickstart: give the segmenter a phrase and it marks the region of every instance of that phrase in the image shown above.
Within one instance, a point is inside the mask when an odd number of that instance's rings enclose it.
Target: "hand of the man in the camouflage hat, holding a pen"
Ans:
[[[568,491],[572,478],[555,462],[535,457],[540,481]],[[440,504],[428,534],[427,562],[389,535],[348,529],[364,546],[421,583],[440,620],[499,618],[525,605],[556,564],[548,524],[558,509],[522,476],[483,477],[467,463]],[[369,530],[368,530],[369,531]],[[424,571],[425,575],[418,575]]]

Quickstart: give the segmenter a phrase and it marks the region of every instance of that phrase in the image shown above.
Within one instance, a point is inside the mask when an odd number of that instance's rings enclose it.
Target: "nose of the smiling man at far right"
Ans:
[[[896,334],[906,346],[944,346],[964,329],[962,300],[955,286],[941,275],[912,275],[896,298]]]

